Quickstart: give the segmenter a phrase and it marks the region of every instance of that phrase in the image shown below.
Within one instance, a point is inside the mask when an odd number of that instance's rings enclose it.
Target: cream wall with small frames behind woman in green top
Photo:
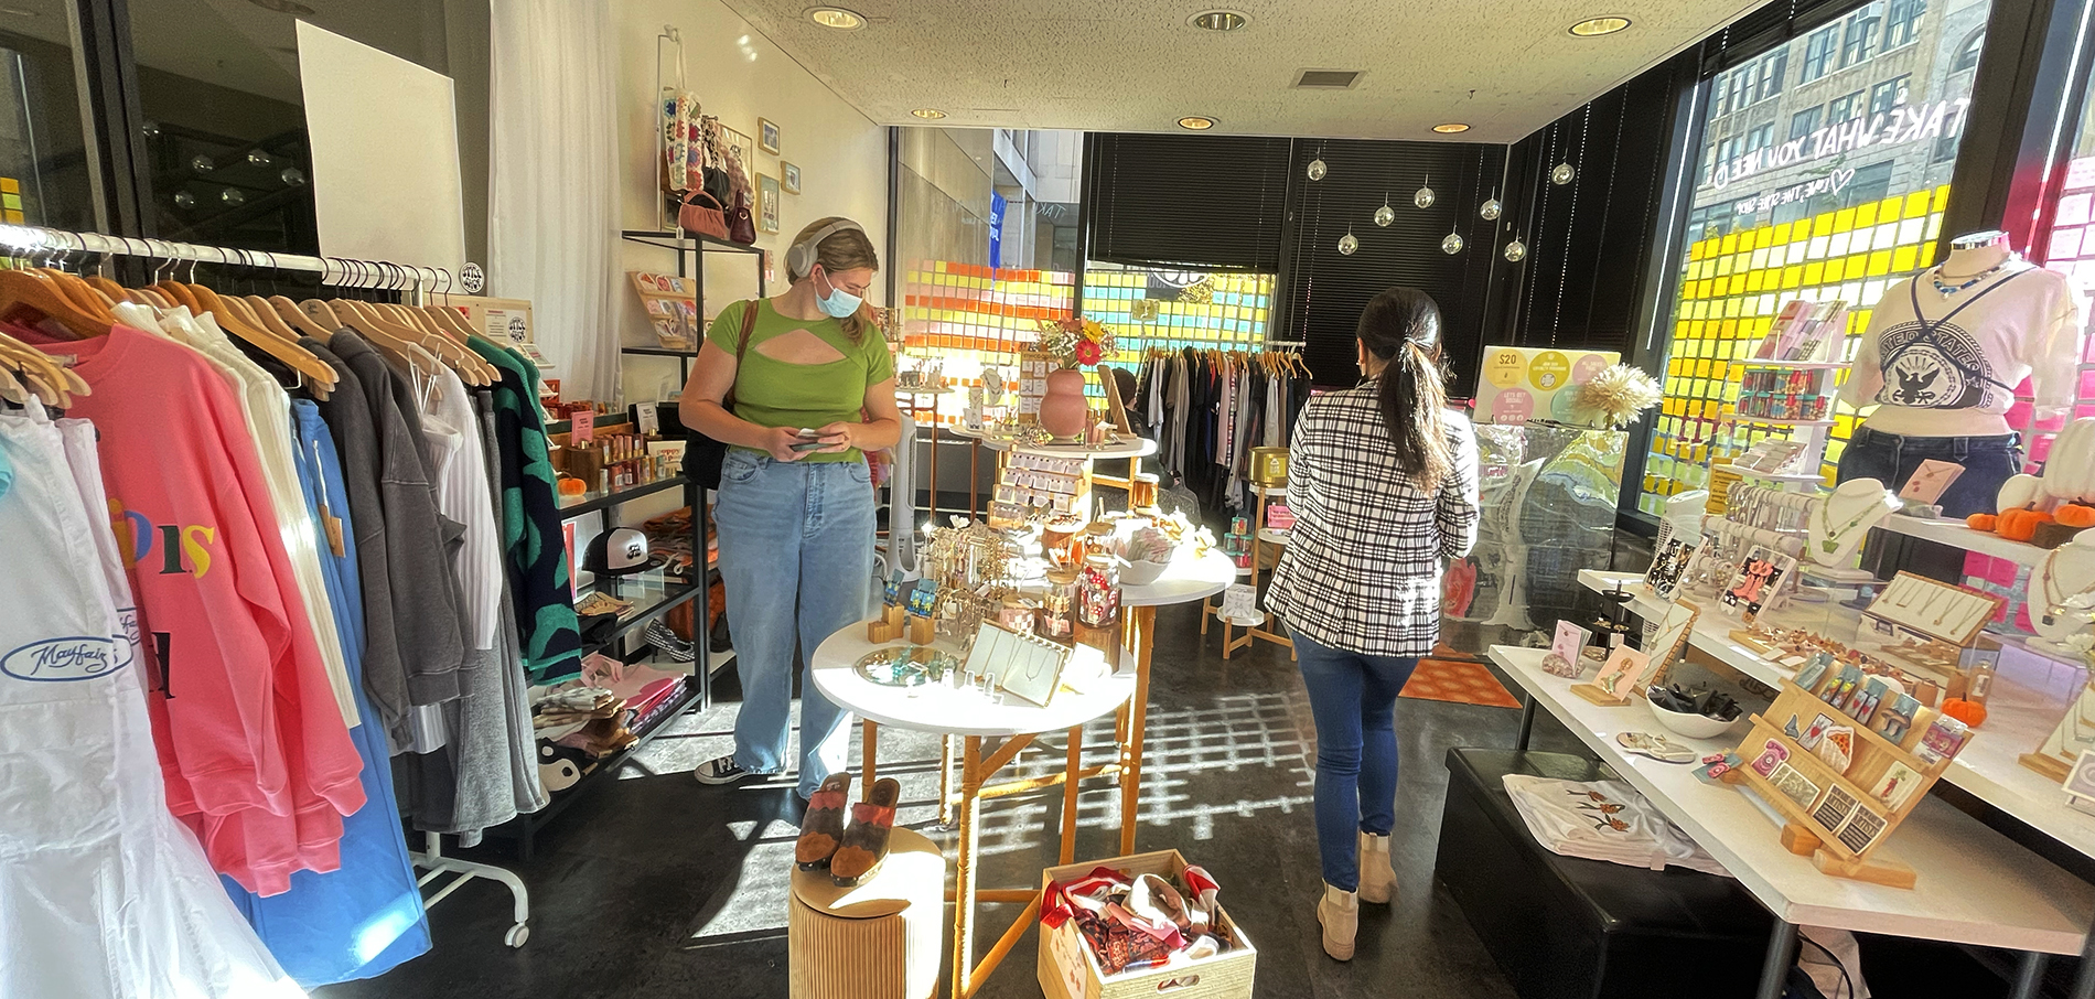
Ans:
[[[683,31],[685,90],[698,94],[708,115],[756,136],[756,117],[779,126],[779,155],[754,153],[754,174],[779,176],[779,159],[800,168],[800,195],[784,195],[779,232],[758,232],[756,245],[771,249],[769,293],[786,281],[786,247],[800,226],[823,216],[848,216],[865,226],[874,245],[888,245],[888,132],[836,96],[821,80],[786,57],[735,17],[719,0],[614,0],[620,52],[622,149],[620,228],[654,228],[658,199],[656,165],[656,36],[662,25]],[[664,61],[672,48],[662,46]],[[675,63],[664,65],[675,82]],[[675,272],[675,256],[664,249],[626,245],[626,270]],[[882,260],[886,266],[888,262]],[[706,310],[756,293],[756,264],[746,256],[710,253],[706,262]],[[884,306],[874,283],[874,304]],[[624,343],[652,346],[654,333],[635,295],[622,302]],[[626,402],[656,398],[664,381],[675,381],[675,360],[626,358]]]

